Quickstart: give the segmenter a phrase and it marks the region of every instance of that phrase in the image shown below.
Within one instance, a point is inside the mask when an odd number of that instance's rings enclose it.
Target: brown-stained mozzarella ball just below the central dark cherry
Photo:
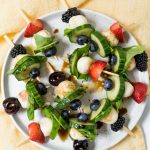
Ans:
[[[60,98],[63,98],[68,93],[73,92],[75,89],[76,86],[73,82],[65,80],[55,88],[55,94]]]

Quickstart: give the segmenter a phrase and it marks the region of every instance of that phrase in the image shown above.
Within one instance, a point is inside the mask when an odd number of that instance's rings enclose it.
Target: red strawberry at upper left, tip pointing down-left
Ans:
[[[44,29],[44,25],[40,19],[30,22],[25,30],[24,37],[32,37],[35,33]]]

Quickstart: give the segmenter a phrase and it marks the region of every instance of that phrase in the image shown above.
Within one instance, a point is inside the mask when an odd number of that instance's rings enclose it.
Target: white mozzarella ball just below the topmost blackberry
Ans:
[[[69,28],[71,29],[84,24],[88,24],[88,21],[83,15],[73,16],[69,19]]]

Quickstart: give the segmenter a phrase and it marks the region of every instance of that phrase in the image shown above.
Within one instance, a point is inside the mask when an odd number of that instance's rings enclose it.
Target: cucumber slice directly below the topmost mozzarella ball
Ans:
[[[72,30],[66,29],[65,31],[67,31],[67,32],[65,32],[65,35],[68,36],[68,38],[71,42],[76,43],[77,37],[79,35],[86,35],[87,37],[90,37],[93,30],[94,29],[90,24],[84,24],[84,25],[76,27],[75,29],[72,29]]]

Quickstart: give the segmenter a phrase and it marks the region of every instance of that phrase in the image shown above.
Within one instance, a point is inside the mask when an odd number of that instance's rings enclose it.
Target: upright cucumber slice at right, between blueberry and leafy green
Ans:
[[[120,73],[124,70],[126,54],[121,47],[115,48],[113,54],[117,57],[117,63],[112,67],[112,70],[116,73]]]

